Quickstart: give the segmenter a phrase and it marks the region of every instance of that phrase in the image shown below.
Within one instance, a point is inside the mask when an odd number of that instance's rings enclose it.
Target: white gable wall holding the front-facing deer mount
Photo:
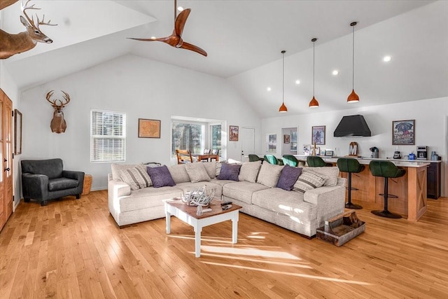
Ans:
[[[60,98],[59,90],[71,97],[62,134],[50,131],[53,109],[45,100],[50,90],[55,90],[55,98]],[[261,123],[225,79],[134,55],[27,90],[21,106],[22,159],[62,158],[64,169],[92,174],[92,190],[107,188],[111,163],[90,162],[90,109],[126,113],[127,163],[170,164],[171,116],[227,120],[228,125],[255,127],[255,132],[260,132]],[[138,138],[138,118],[161,120],[161,138]],[[239,142],[230,142],[228,158],[240,157]]]

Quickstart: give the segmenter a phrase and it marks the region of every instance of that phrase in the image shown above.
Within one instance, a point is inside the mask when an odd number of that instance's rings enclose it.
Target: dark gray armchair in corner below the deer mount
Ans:
[[[61,159],[22,160],[22,193],[25,202],[31,198],[45,206],[48,200],[68,195],[80,199],[84,172],[63,170]]]

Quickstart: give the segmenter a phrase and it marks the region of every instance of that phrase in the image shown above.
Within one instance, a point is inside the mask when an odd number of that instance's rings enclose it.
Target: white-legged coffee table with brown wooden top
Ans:
[[[204,212],[201,216],[196,215],[197,207],[184,204],[180,200],[165,200],[165,214],[167,216],[167,234],[171,232],[171,216],[176,216],[181,221],[193,226],[195,229],[195,256],[201,256],[201,232],[202,228],[223,221],[232,221],[232,244],[238,242],[238,219],[241,206],[232,204],[230,209],[221,208],[220,200],[212,202],[212,211]]]

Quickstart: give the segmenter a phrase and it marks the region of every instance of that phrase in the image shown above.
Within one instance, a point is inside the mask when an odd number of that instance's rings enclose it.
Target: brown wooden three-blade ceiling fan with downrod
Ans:
[[[188,15],[190,15],[191,8],[186,8],[179,15],[176,13],[176,3],[174,0],[174,30],[170,36],[160,37],[160,38],[151,38],[151,39],[136,39],[133,37],[128,37],[128,39],[135,39],[136,41],[162,41],[163,43],[169,44],[169,46],[175,48],[182,48],[186,50],[191,50],[196,53],[200,53],[204,56],[207,56],[207,52],[202,50],[202,48],[192,45],[191,43],[187,43],[182,39],[182,32],[185,23],[187,22]]]

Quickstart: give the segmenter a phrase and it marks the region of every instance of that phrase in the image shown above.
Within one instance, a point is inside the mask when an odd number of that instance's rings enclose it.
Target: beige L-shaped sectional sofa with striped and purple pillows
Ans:
[[[337,167],[195,162],[113,164],[111,171],[109,211],[120,227],[165,217],[163,200],[204,185],[215,197],[241,205],[241,212],[305,237],[314,237],[326,219],[344,212],[346,180]]]

